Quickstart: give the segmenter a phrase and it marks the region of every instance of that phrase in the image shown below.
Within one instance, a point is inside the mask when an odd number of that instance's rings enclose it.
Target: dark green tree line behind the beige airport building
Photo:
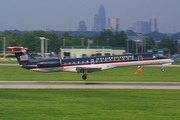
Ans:
[[[30,52],[40,52],[41,51],[41,40],[40,37],[45,37],[48,40],[48,52],[60,51],[60,47],[64,46],[88,46],[88,41],[90,46],[112,46],[112,47],[125,47],[127,49],[127,44],[129,45],[129,52],[136,53],[141,52],[141,44],[136,44],[133,40],[128,40],[128,36],[124,31],[112,32],[110,30],[104,30],[100,33],[96,33],[94,36],[89,37],[85,35],[69,35],[68,32],[64,32],[62,35],[58,35],[54,32],[45,32],[42,30],[16,33],[11,31],[0,32],[0,49],[3,49],[3,38],[6,37],[6,46],[23,46],[28,48]],[[178,42],[176,39],[164,38],[161,42],[156,43],[153,38],[145,38],[146,50],[152,49],[154,47],[162,49],[169,48],[171,54],[178,53]],[[138,47],[138,48],[137,48]]]

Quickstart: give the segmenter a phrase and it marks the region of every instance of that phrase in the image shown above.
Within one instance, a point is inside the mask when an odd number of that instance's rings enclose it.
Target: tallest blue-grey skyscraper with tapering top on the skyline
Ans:
[[[100,32],[106,27],[105,8],[103,5],[99,7],[99,12],[94,16],[93,31]]]

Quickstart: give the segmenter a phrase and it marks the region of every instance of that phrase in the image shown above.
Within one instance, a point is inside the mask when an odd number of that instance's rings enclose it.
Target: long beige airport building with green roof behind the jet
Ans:
[[[124,47],[111,46],[62,46],[61,58],[81,58],[93,56],[122,55]]]

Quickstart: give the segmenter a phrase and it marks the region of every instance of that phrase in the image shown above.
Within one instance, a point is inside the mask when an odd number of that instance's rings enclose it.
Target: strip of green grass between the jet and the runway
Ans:
[[[141,82],[179,82],[180,68],[143,68],[141,73],[135,74],[137,67],[115,68],[107,71],[93,72],[88,74],[86,81],[141,81]],[[0,80],[12,81],[83,81],[82,73],[55,72],[40,73],[29,71],[18,66],[0,66]]]

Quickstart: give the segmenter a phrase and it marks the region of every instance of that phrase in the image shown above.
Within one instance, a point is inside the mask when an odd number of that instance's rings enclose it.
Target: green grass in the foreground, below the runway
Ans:
[[[179,120],[180,90],[0,89],[0,120]]]

